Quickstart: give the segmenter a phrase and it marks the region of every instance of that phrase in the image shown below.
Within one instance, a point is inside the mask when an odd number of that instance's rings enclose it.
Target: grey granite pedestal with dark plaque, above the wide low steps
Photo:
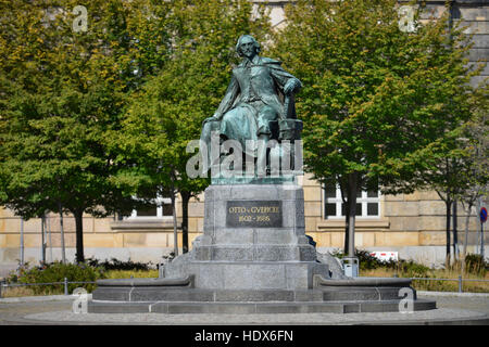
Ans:
[[[165,278],[195,275],[198,288],[308,290],[328,277],[304,230],[303,190],[294,184],[211,185],[204,232]]]

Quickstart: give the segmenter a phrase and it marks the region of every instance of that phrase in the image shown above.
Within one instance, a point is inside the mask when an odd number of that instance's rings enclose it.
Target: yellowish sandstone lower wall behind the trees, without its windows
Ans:
[[[317,243],[319,252],[342,249],[344,220],[324,218],[324,195],[316,181],[306,175],[300,179],[304,190],[305,232]],[[189,245],[203,231],[203,196],[193,198],[189,208]],[[426,264],[444,259],[444,203],[435,192],[416,192],[410,195],[380,196],[378,218],[356,218],[355,246],[368,250],[394,250],[405,259]],[[181,220],[181,206],[177,205],[177,217]],[[75,257],[75,221],[64,218],[66,257]],[[48,218],[50,230],[46,236],[46,257],[61,259],[60,219]],[[459,243],[464,241],[465,214],[459,206]],[[179,226],[178,226],[179,227]],[[20,259],[21,220],[8,209],[0,210],[0,262],[15,264]],[[24,222],[25,261],[36,262],[41,257],[41,222],[32,219]],[[477,252],[479,223],[475,209],[471,217],[468,252]],[[486,245],[489,237],[486,233]],[[181,230],[178,228],[178,245],[181,247]],[[165,220],[125,220],[84,216],[84,246],[87,258],[158,262],[174,247],[173,222]],[[181,252],[181,249],[179,250]],[[52,258],[51,258],[52,254]]]

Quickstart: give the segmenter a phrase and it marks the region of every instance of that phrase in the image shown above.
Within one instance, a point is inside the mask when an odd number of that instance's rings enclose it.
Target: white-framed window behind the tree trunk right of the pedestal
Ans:
[[[324,187],[324,216],[326,219],[344,218],[347,206],[341,200],[339,185],[326,184]],[[356,217],[378,218],[380,193],[377,190],[356,192]]]

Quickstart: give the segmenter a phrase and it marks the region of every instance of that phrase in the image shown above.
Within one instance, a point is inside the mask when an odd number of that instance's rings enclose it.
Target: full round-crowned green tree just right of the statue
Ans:
[[[299,0],[275,38],[276,55],[304,85],[305,169],[341,184],[350,237],[355,192],[377,183],[413,192],[411,179],[426,168],[419,152],[471,114],[462,30],[449,35],[447,13],[411,33],[399,22],[396,0]],[[350,256],[353,246],[350,239]]]

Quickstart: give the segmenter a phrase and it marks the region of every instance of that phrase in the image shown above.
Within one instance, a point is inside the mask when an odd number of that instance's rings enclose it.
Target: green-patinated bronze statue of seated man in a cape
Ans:
[[[236,51],[243,60],[233,69],[217,111],[203,121],[201,140],[210,149],[211,133],[218,131],[222,140],[236,140],[243,153],[256,157],[256,167],[265,167],[266,144],[273,137],[271,124],[278,124],[286,137],[290,133],[285,120],[294,118],[293,94],[302,85],[280,62],[260,56],[260,44],[252,36],[241,36]],[[263,145],[250,149],[249,140],[263,141]]]

